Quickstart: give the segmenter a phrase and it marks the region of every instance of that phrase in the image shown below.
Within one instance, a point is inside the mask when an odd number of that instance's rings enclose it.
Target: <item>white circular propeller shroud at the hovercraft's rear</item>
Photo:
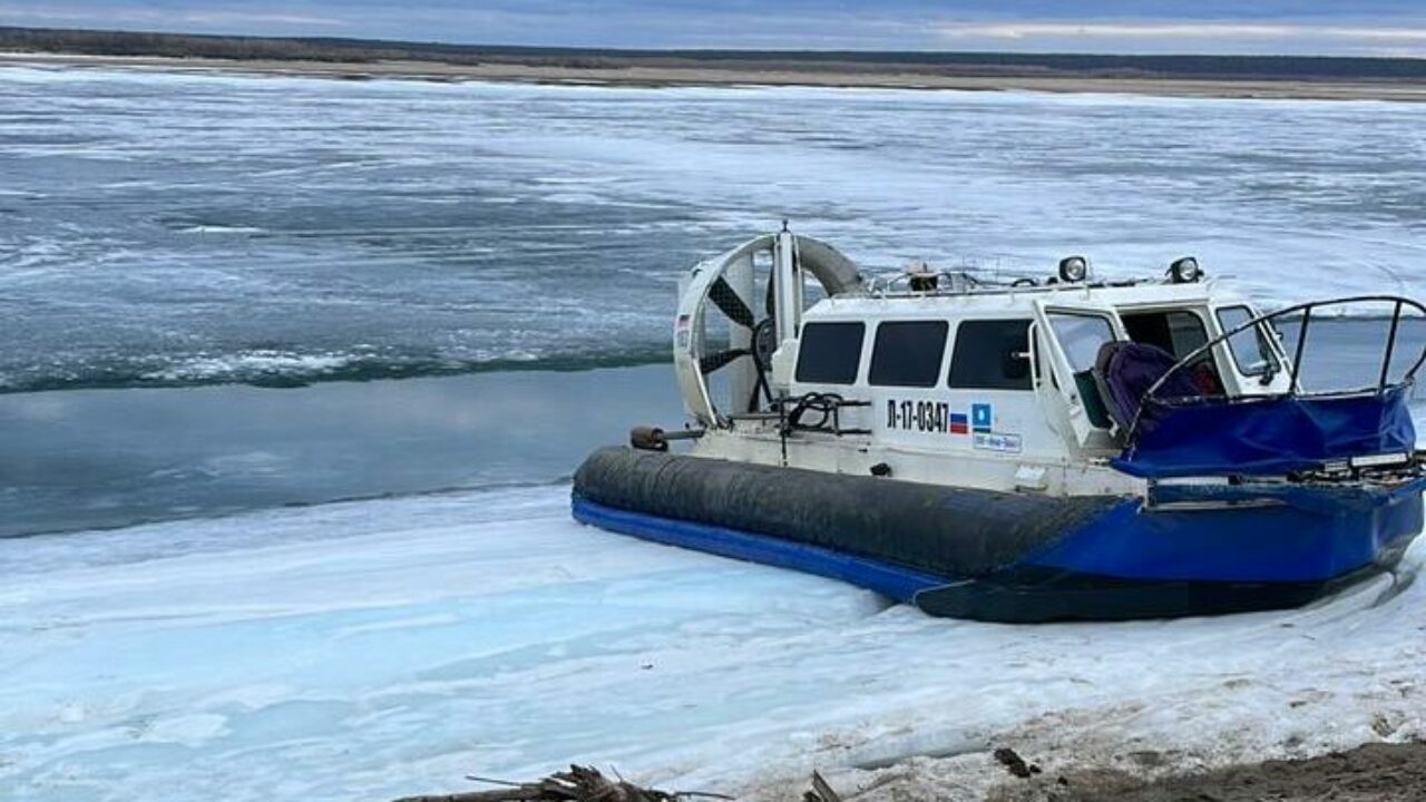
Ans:
[[[757,257],[767,254],[770,260]],[[754,300],[757,267],[770,263],[766,293]],[[810,274],[827,297],[863,291],[857,265],[831,245],[789,231],[764,234],[689,273],[680,291],[673,331],[673,362],[679,390],[693,418],[704,427],[726,427],[729,415],[757,411],[773,398],[769,370],[773,352],[796,340],[803,314],[803,280]],[[763,317],[754,311],[761,307]],[[724,318],[729,342],[709,341],[709,324]],[[734,408],[719,410],[709,377],[727,372]]]

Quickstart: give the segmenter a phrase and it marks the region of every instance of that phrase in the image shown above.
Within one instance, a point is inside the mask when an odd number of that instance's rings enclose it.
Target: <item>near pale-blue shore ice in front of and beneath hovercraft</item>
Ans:
[[[566,492],[0,541],[0,796],[382,799],[589,761],[955,798],[1001,776],[990,745],[1184,766],[1426,736],[1420,544],[1303,611],[1017,628],[583,528]],[[943,758],[876,771],[914,755]]]

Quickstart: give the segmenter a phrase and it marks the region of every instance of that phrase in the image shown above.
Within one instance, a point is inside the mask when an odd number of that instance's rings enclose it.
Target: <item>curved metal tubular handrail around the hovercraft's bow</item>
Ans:
[[[1242,334],[1243,331],[1256,330],[1258,327],[1261,327],[1263,324],[1269,324],[1273,320],[1278,320],[1278,318],[1282,318],[1282,317],[1289,317],[1289,315],[1293,315],[1293,314],[1298,314],[1298,313],[1302,314],[1302,323],[1299,324],[1298,344],[1293,348],[1292,364],[1286,365],[1289,368],[1289,374],[1288,374],[1289,375],[1288,391],[1283,392],[1282,395],[1273,395],[1273,397],[1278,397],[1278,398],[1308,397],[1308,398],[1310,398],[1310,397],[1315,397],[1315,395],[1339,395],[1339,394],[1342,394],[1343,391],[1328,391],[1328,392],[1315,392],[1315,394],[1313,392],[1302,392],[1302,388],[1298,384],[1298,377],[1299,377],[1301,370],[1302,370],[1302,354],[1303,354],[1303,348],[1306,347],[1306,342],[1308,342],[1308,328],[1312,324],[1312,310],[1316,310],[1316,308],[1320,308],[1320,307],[1340,307],[1340,305],[1349,305],[1349,304],[1382,304],[1382,303],[1393,304],[1393,307],[1392,307],[1392,328],[1390,328],[1390,331],[1386,335],[1386,354],[1385,354],[1385,357],[1382,360],[1380,378],[1378,380],[1378,384],[1376,384],[1375,388],[1360,388],[1360,390],[1352,391],[1352,392],[1362,392],[1362,391],[1366,391],[1366,390],[1373,390],[1375,392],[1385,392],[1389,387],[1395,388],[1395,387],[1402,387],[1402,385],[1407,385],[1407,384],[1413,382],[1416,380],[1416,374],[1420,371],[1422,365],[1426,364],[1426,345],[1422,347],[1422,352],[1416,357],[1416,361],[1412,364],[1412,367],[1402,375],[1400,381],[1387,384],[1387,378],[1389,378],[1389,374],[1390,374],[1390,370],[1392,370],[1392,357],[1396,352],[1396,335],[1400,331],[1402,311],[1405,311],[1409,307],[1409,308],[1413,308],[1417,313],[1420,313],[1422,318],[1426,318],[1426,305],[1422,305],[1420,303],[1413,301],[1410,298],[1405,298],[1402,295],[1350,295],[1350,297],[1342,297],[1342,298],[1326,298],[1326,300],[1320,300],[1320,301],[1309,301],[1306,304],[1296,304],[1296,305],[1292,305],[1292,307],[1286,307],[1286,308],[1278,310],[1275,313],[1258,315],[1258,317],[1249,320],[1248,323],[1243,323],[1242,325],[1236,325],[1232,330],[1225,331],[1225,333],[1219,334],[1218,337],[1214,337],[1208,342],[1204,342],[1198,348],[1194,348],[1192,351],[1189,351],[1179,361],[1174,362],[1174,365],[1169,370],[1166,370],[1164,372],[1164,375],[1161,375],[1144,392],[1144,398],[1139,400],[1139,407],[1134,412],[1134,421],[1129,424],[1129,430],[1125,434],[1125,442],[1129,445],[1129,448],[1134,447],[1135,435],[1138,434],[1139,425],[1141,425],[1142,418],[1144,418],[1144,410],[1149,405],[1149,401],[1154,401],[1154,394],[1158,392],[1164,387],[1164,384],[1169,380],[1169,377],[1172,377],[1174,374],[1179,372],[1181,370],[1184,370],[1189,364],[1198,361],[1199,357],[1202,357],[1204,354],[1208,354],[1209,351],[1212,351],[1214,348],[1216,348],[1219,344],[1232,340],[1238,334]],[[1258,397],[1253,397],[1253,398],[1258,398]]]

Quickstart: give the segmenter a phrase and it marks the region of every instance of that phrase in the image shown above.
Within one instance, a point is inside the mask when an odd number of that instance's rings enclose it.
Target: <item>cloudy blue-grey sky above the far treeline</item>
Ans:
[[[576,47],[1426,57],[1426,0],[0,0],[0,26]]]

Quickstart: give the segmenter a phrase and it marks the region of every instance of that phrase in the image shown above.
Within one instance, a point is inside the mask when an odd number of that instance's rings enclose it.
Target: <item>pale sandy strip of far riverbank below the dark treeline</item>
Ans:
[[[961,91],[1104,93],[1156,97],[1265,100],[1426,101],[1426,81],[1293,80],[1235,77],[1109,77],[1109,76],[961,76],[917,70],[843,68],[834,63],[770,67],[740,63],[562,66],[520,63],[442,63],[428,60],[319,61],[279,59],[211,59],[168,56],[91,56],[67,53],[0,53],[0,67],[137,68],[177,73],[314,77],[334,80],[425,80],[442,83],[501,81],[609,87],[840,87]]]

